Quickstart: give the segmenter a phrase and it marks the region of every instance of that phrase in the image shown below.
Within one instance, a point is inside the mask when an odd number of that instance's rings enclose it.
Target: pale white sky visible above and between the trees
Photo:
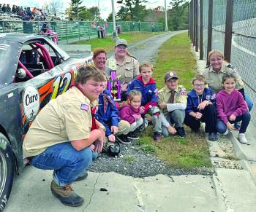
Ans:
[[[50,1],[61,1],[63,2],[63,9],[62,11],[65,10],[66,7],[69,6],[70,0],[45,0],[45,1],[38,1],[38,0],[0,0],[0,4],[15,4],[15,5],[20,5],[23,7],[42,7],[45,3],[50,2]],[[121,7],[121,4],[116,3],[117,0],[114,0],[115,2],[115,11],[118,12],[118,10]],[[145,3],[146,8],[155,8],[158,6],[165,7],[165,0],[147,0],[148,2]],[[170,0],[166,0],[166,4],[168,6]],[[106,19],[110,12],[112,12],[112,4],[111,0],[83,0],[83,6],[86,6],[87,8],[89,7],[97,7],[99,5],[99,10],[101,17],[103,19]]]

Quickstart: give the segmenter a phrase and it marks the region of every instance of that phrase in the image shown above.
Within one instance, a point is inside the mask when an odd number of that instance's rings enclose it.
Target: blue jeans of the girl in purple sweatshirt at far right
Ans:
[[[239,133],[245,133],[246,132],[246,128],[249,125],[250,119],[251,119],[251,114],[249,114],[249,112],[246,112],[245,114],[242,114],[241,116],[236,117],[234,122],[242,121]],[[229,121],[229,122],[234,123],[234,122],[231,122],[231,121]],[[227,125],[225,125],[225,123],[222,122],[222,120],[218,119],[217,120],[217,131],[219,133],[223,134],[223,133],[226,132],[226,130],[227,130]]]

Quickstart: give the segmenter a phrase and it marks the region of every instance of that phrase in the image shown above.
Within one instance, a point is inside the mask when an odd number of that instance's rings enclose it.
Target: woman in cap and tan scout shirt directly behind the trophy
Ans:
[[[140,64],[138,60],[129,55],[125,39],[118,39],[116,41],[114,53],[106,61],[106,66],[109,66],[111,61],[116,60],[116,76],[121,81],[122,100],[126,100],[127,85],[132,79],[140,75]]]

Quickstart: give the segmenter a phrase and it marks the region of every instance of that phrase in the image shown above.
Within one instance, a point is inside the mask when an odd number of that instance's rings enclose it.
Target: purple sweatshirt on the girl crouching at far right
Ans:
[[[229,122],[229,117],[233,114],[238,117],[248,111],[243,95],[238,90],[228,94],[225,90],[219,91],[216,100],[217,114],[225,124]]]

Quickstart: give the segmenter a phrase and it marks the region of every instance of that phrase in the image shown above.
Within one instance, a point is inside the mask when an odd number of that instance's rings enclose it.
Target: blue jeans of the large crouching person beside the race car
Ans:
[[[91,161],[89,147],[77,151],[70,142],[64,142],[48,147],[45,152],[32,157],[30,163],[39,169],[54,170],[53,180],[62,187],[75,181]]]

